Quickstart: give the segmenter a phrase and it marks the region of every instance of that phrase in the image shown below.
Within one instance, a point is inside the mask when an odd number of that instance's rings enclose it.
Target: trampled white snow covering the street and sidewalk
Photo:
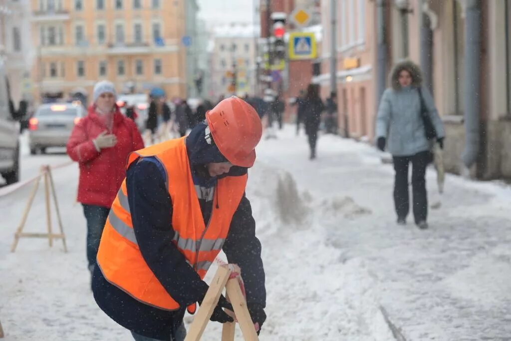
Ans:
[[[406,340],[511,339],[509,188],[448,176],[440,197],[431,172],[430,203],[442,203],[431,229],[398,226],[392,167],[373,148],[322,136],[311,162],[303,132],[277,135],[258,147],[247,188],[266,269],[262,340],[394,340],[383,311]],[[129,340],[89,289],[78,168],[54,176],[68,254],[27,239],[9,253],[26,193],[0,198],[6,340]],[[42,195],[27,230],[45,231]],[[212,323],[203,339],[219,337]]]

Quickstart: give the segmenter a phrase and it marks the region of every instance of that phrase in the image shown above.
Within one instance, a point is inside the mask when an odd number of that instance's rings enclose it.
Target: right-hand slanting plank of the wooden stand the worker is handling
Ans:
[[[241,332],[245,341],[257,341],[259,337],[255,331],[254,324],[248,312],[247,302],[243,296],[243,292],[240,288],[240,283],[237,278],[233,278],[227,281],[225,286],[227,294],[229,295],[231,304],[233,304],[236,319],[240,324]]]

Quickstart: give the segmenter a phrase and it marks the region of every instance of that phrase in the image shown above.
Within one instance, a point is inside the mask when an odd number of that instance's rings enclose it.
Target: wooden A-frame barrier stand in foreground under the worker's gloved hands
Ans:
[[[195,316],[184,341],[200,340],[200,337],[204,333],[207,323],[210,321],[210,317],[217,306],[218,299],[220,298],[220,294],[224,288],[227,293],[226,297],[233,305],[236,320],[240,324],[243,338],[247,341],[259,340],[254,324],[250,318],[250,313],[248,312],[247,302],[243,292],[241,291],[239,278],[235,277],[229,279],[231,272],[237,272],[237,274],[240,274],[240,269],[233,265],[222,265],[218,267],[210,288],[207,290],[204,300],[202,301],[202,305],[197,311],[197,315]],[[228,310],[226,310],[226,312],[228,312]],[[222,329],[222,341],[234,341],[235,328],[236,322],[224,323]]]

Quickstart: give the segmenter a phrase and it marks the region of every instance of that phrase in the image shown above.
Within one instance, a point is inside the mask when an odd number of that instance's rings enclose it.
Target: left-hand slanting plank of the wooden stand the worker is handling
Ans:
[[[206,329],[207,323],[213,314],[213,310],[217,306],[220,294],[225,287],[225,283],[229,279],[230,270],[227,267],[219,266],[210,288],[207,290],[204,300],[194,317],[192,325],[188,331],[187,337],[184,341],[199,341],[200,337]]]

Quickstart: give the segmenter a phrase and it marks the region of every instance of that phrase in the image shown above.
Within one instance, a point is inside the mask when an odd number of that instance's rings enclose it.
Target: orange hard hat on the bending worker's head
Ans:
[[[207,125],[218,150],[231,164],[252,167],[255,146],[261,140],[263,125],[255,109],[232,96],[206,112]]]

